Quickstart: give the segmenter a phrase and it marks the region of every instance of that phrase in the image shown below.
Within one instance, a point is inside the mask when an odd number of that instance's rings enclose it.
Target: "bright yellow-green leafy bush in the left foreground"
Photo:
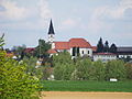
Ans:
[[[26,74],[26,64],[7,58],[0,52],[0,98],[1,99],[32,99],[38,98],[40,80]]]

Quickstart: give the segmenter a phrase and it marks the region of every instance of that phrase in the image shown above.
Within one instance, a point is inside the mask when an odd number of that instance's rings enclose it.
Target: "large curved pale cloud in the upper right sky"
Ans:
[[[121,0],[116,7],[102,6],[94,10],[90,21],[88,23],[88,29],[94,33],[100,33],[99,31],[111,30],[114,25],[111,22],[106,22],[111,20],[121,20],[125,16],[132,16],[128,12],[132,11],[132,0]],[[128,18],[127,18],[128,19]]]

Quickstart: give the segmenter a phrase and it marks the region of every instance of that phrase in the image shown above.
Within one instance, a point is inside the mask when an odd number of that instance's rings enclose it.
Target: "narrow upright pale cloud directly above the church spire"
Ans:
[[[40,0],[38,6],[40,6],[40,16],[44,20],[51,19],[52,12],[50,10],[47,0]]]

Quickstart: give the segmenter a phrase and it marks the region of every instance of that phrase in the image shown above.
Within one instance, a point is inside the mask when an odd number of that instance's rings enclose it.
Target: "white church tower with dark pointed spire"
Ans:
[[[55,38],[55,32],[51,20],[50,29],[48,29],[48,42],[52,44],[54,42],[54,38]]]

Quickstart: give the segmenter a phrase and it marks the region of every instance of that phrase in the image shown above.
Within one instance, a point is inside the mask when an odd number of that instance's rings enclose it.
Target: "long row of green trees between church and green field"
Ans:
[[[132,79],[132,64],[123,61],[91,62],[88,57],[72,59],[64,52],[53,57],[54,76],[56,80],[118,80]]]

